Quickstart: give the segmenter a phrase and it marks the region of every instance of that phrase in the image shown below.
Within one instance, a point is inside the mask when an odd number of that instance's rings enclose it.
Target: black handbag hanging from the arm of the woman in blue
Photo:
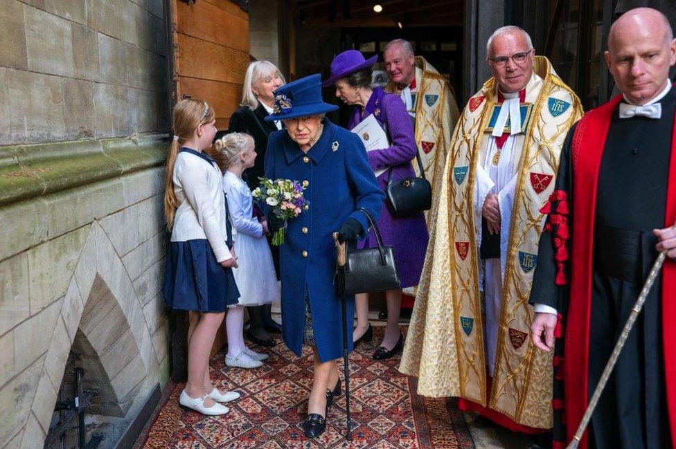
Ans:
[[[371,293],[401,288],[397,265],[394,262],[394,248],[383,246],[380,230],[375,224],[371,213],[364,208],[369,226],[373,228],[377,248],[355,249],[348,248],[345,264],[345,294]],[[368,232],[366,230],[365,232]]]

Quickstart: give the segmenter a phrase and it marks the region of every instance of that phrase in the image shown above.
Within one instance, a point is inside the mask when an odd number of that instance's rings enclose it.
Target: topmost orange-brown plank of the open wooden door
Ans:
[[[221,2],[231,4],[229,2]],[[234,6],[240,10],[239,6]],[[249,19],[206,1],[177,2],[177,32],[234,50],[249,51]]]

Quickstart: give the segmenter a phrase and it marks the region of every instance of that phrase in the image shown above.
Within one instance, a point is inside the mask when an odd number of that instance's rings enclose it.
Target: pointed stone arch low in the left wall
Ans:
[[[153,338],[152,317],[144,313],[125,262],[104,228],[97,221],[91,223],[75,269],[66,273],[70,282],[53,328],[35,330],[51,340],[39,376],[26,379],[22,387],[35,395],[22,420],[26,428],[21,447],[44,444],[71,347],[91,358],[91,363],[84,363],[87,378],[91,388],[101,392],[87,411],[89,423],[115,428],[113,438],[99,447],[114,446],[115,434],[119,437],[160,383],[158,352],[166,354],[167,339]],[[161,306],[157,313],[162,313]]]

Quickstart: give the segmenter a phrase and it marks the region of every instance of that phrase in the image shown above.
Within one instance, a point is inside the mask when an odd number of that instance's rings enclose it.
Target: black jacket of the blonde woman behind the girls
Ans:
[[[242,106],[240,109],[233,112],[233,115],[230,118],[229,133],[247,133],[253,137],[253,141],[256,143],[256,161],[254,161],[253,167],[244,170],[242,176],[242,178],[247,181],[251,190],[258,187],[258,184],[260,183],[258,177],[263,176],[264,174],[263,161],[265,161],[267,137],[272,132],[277,131],[274,122],[266,122],[263,120],[266,116],[267,111],[265,110],[265,107],[263,107],[263,104],[258,104],[258,107],[253,111],[251,111],[248,106]]]

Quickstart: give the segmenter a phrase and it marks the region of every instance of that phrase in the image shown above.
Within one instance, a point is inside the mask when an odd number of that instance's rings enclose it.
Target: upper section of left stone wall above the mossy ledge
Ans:
[[[161,0],[2,0],[0,145],[168,129]]]

